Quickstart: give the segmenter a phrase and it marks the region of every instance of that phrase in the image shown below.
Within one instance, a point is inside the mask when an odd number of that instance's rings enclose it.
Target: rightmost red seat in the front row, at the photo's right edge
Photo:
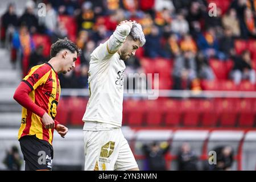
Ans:
[[[238,118],[238,126],[240,127],[253,127],[254,125],[254,111],[253,102],[251,99],[243,99],[236,104],[240,117]]]

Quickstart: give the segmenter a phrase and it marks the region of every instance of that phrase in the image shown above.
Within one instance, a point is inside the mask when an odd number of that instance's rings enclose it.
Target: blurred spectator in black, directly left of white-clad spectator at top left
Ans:
[[[24,11],[23,15],[20,16],[20,18],[18,20],[18,25],[21,26],[22,24],[26,24],[26,26],[28,27],[28,31],[30,33],[42,31],[38,27],[38,18],[36,18],[35,14],[34,14],[34,7],[35,7],[34,1],[27,1],[26,10]]]

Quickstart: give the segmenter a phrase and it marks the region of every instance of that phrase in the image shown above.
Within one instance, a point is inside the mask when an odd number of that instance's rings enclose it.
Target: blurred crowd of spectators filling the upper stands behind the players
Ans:
[[[46,4],[45,16],[39,16],[40,2]],[[216,16],[209,14],[210,2],[217,5]],[[170,69],[167,76],[160,75],[165,83],[160,89],[205,89],[202,80],[221,77],[214,70],[221,62],[230,65],[226,80],[237,86],[246,79],[254,85],[255,8],[254,0],[44,0],[27,1],[24,13],[17,16],[15,3],[10,3],[1,16],[1,41],[26,75],[32,66],[48,60],[51,43],[67,36],[82,55],[74,72],[60,76],[61,87],[87,88],[90,53],[112,35],[118,22],[132,19],[142,24],[146,44],[126,62],[126,74],[150,72],[144,58],[151,67],[164,59],[171,67],[164,68]],[[249,49],[240,48],[248,42]]]

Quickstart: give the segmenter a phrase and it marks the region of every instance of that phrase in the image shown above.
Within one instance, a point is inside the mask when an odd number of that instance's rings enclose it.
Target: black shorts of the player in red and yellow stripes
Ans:
[[[26,171],[52,169],[53,148],[51,144],[36,138],[35,135],[26,135],[19,139],[19,143]]]

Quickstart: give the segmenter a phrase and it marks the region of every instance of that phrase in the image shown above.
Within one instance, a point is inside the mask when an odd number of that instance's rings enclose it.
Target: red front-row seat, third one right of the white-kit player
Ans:
[[[181,120],[180,101],[163,100],[164,122],[167,126],[179,126]]]

